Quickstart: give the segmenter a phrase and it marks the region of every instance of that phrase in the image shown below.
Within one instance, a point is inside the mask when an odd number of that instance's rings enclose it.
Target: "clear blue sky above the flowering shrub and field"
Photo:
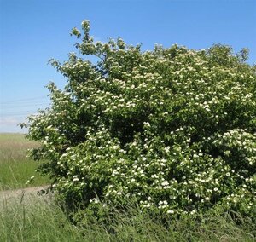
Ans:
[[[64,86],[47,62],[75,51],[69,32],[84,19],[97,40],[122,37],[143,49],[224,43],[249,48],[256,62],[255,0],[0,0],[0,132],[22,132],[16,124],[49,105],[44,86]]]

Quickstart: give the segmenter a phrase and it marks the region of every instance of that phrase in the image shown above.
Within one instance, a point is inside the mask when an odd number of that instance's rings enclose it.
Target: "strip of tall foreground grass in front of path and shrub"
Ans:
[[[1,202],[3,202],[1,204]],[[239,217],[239,216],[238,216]],[[22,196],[0,199],[0,241],[255,241],[255,224],[239,218],[239,226],[229,213],[218,211],[169,221],[143,216],[136,207],[115,211],[109,230],[101,222],[74,226],[55,201],[45,197]]]

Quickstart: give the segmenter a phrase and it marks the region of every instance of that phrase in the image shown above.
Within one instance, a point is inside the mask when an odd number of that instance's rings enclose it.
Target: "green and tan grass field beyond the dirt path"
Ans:
[[[48,177],[35,172],[38,163],[26,158],[26,150],[37,145],[34,141],[27,141],[22,134],[0,134],[0,190],[49,183]],[[26,185],[31,176],[35,176],[34,181]]]

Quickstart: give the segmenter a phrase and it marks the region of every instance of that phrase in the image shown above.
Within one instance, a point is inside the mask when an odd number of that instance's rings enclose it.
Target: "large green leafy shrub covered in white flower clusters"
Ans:
[[[88,21],[72,34],[80,55],[51,64],[52,104],[28,118],[32,158],[67,204],[126,205],[170,215],[224,205],[256,215],[256,75],[247,50],[95,43]]]

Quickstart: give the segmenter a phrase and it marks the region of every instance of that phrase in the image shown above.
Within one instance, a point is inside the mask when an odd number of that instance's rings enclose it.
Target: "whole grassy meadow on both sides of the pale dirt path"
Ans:
[[[35,174],[37,163],[26,158],[26,149],[37,143],[24,135],[2,134],[0,177],[2,189],[44,185],[46,177]],[[236,217],[236,219],[234,219]],[[255,241],[256,226],[232,211],[210,210],[197,217],[176,220],[143,215],[138,206],[109,211],[108,221],[90,220],[74,225],[52,195],[0,192],[0,241]]]

